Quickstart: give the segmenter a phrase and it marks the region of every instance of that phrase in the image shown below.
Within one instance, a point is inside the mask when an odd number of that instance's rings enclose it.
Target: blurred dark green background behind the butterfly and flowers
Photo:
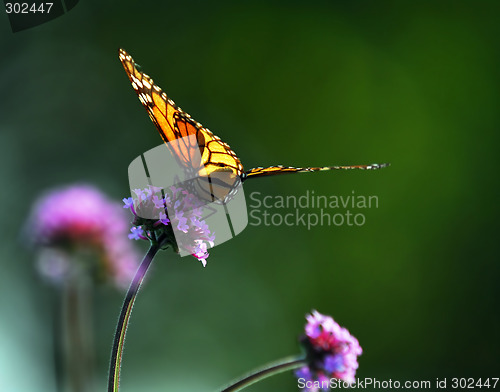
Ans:
[[[245,184],[247,196],[377,195],[362,227],[248,226],[206,268],[161,253],[134,308],[123,392],[215,391],[298,352],[311,309],[359,339],[358,377],[499,377],[499,12],[82,0],[15,34],[0,16],[0,390],[55,390],[53,290],[21,234],[30,205],[81,181],[120,200],[128,164],[161,142],[119,47],[246,168],[392,163]],[[122,295],[93,295],[98,390]],[[296,389],[290,373],[249,388]]]

